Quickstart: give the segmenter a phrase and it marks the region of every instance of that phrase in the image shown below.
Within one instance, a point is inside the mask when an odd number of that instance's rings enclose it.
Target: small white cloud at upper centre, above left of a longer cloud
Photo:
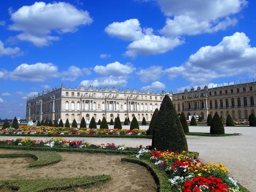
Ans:
[[[108,35],[121,38],[125,41],[134,41],[143,37],[138,19],[113,22],[105,28],[105,31]]]

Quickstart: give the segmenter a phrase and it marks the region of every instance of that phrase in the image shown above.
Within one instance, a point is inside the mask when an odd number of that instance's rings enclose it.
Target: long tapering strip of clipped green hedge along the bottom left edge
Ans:
[[[19,192],[43,192],[49,190],[67,190],[77,187],[91,187],[110,179],[109,175],[93,177],[83,176],[62,179],[18,179],[0,181],[0,188],[12,189]]]

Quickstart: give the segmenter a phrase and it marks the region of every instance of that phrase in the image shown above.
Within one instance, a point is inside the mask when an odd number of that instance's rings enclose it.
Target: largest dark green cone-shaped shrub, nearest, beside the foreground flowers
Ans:
[[[188,151],[187,140],[180,119],[168,95],[165,95],[157,115],[152,148],[162,151]]]

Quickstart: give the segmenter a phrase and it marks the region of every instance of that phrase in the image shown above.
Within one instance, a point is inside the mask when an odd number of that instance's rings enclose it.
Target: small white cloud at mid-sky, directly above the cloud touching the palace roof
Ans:
[[[113,63],[109,63],[106,66],[95,66],[93,70],[95,73],[102,76],[121,76],[131,74],[135,70],[135,68],[132,65],[123,65],[118,61],[115,61]]]

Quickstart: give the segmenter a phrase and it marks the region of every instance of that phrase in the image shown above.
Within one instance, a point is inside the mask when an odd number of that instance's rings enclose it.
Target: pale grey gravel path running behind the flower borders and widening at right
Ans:
[[[190,132],[209,132],[207,126],[190,126]],[[226,133],[242,133],[242,136],[202,137],[187,135],[190,151],[198,151],[204,162],[223,163],[235,179],[250,191],[256,191],[256,127],[225,127]],[[15,139],[13,136],[0,136],[0,139]],[[45,140],[47,137],[31,137]],[[78,138],[65,137],[66,140],[85,140],[92,143],[111,143],[116,145],[151,145],[151,139],[142,138]]]

